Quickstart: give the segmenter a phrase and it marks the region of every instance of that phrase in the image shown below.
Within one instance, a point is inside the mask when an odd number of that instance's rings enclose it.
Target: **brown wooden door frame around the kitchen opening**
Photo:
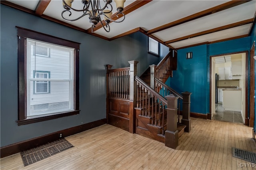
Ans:
[[[245,61],[246,61],[246,66],[245,66],[245,113],[246,113],[246,117],[245,117],[245,125],[249,125],[249,119],[248,119],[248,51],[238,51],[238,52],[234,52],[234,53],[224,53],[224,54],[218,54],[218,55],[210,55],[210,115],[207,115],[207,119],[211,119],[212,118],[212,57],[218,57],[218,56],[222,56],[222,55],[232,55],[232,54],[238,54],[238,53],[245,53]],[[251,80],[251,77],[250,77]],[[215,101],[214,101],[215,102]]]

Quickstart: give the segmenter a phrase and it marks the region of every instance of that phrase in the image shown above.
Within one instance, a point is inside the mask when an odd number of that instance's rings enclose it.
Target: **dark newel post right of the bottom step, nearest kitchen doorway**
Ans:
[[[185,132],[190,132],[191,130],[191,120],[190,120],[190,92],[182,92],[183,102],[182,102],[182,119],[181,124],[186,125]]]

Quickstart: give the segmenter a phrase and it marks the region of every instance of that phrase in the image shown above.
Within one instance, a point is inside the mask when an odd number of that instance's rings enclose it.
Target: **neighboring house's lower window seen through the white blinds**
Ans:
[[[49,79],[50,72],[46,71],[34,71],[34,79],[40,81],[33,82],[33,92],[34,94],[50,93],[50,81],[42,81],[41,79]]]

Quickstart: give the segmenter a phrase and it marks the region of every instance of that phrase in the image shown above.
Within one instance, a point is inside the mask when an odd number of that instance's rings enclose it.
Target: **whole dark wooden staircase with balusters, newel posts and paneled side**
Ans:
[[[178,137],[190,131],[191,94],[182,93],[186,96],[183,100],[164,84],[172,76],[172,70],[176,70],[176,57],[170,51],[158,65],[150,65],[140,77],[136,76],[138,61],[129,61],[130,67],[126,68],[111,69],[111,65],[106,65],[107,123],[175,149]],[[181,123],[180,100],[183,100]]]

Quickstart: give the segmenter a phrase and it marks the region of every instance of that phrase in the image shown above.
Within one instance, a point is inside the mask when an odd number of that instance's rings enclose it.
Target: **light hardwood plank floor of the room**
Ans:
[[[253,164],[232,157],[232,147],[256,152],[252,128],[238,123],[191,118],[174,149],[111,125],[67,137],[74,146],[23,166],[20,154],[0,160],[0,169],[250,169]],[[240,167],[240,163],[250,167]],[[255,164],[256,167],[256,164]]]

